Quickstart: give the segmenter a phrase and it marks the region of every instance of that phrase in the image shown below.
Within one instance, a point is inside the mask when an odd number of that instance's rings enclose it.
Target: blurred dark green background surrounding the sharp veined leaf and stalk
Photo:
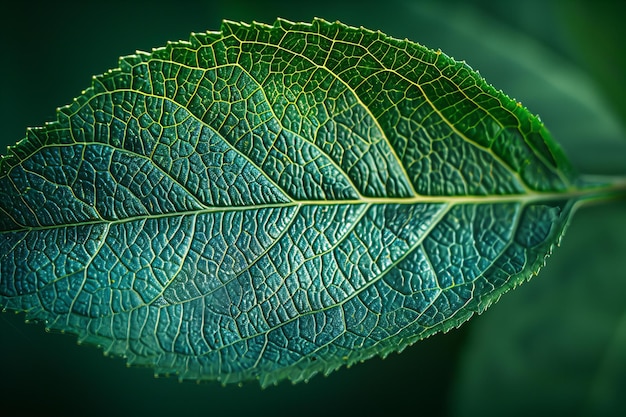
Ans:
[[[220,21],[314,16],[466,60],[540,114],[581,172],[626,174],[622,1],[22,2],[3,11],[0,153],[113,68]],[[538,278],[461,329],[308,384],[155,379],[0,315],[2,415],[626,415],[626,204],[576,213]]]

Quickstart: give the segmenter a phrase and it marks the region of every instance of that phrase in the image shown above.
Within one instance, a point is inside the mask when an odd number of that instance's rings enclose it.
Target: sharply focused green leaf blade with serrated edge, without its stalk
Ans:
[[[0,306],[181,379],[306,380],[530,278],[579,181],[466,64],[315,20],[122,58],[0,160]]]

